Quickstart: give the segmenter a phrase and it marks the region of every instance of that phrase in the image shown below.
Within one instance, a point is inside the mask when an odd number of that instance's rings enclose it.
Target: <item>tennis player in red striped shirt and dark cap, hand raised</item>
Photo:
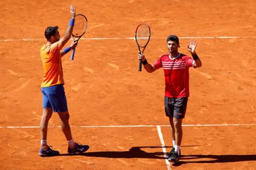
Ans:
[[[158,60],[150,65],[144,54],[139,54],[145,70],[152,73],[161,67],[165,73],[165,114],[169,117],[171,124],[171,135],[173,148],[165,156],[169,161],[177,163],[180,159],[180,145],[182,143],[182,120],[186,114],[186,105],[189,97],[189,67],[201,67],[201,60],[195,49],[197,43],[190,39],[188,51],[193,56],[187,56],[178,52],[180,48],[179,38],[176,35],[167,37],[167,48],[169,54],[160,56]]]

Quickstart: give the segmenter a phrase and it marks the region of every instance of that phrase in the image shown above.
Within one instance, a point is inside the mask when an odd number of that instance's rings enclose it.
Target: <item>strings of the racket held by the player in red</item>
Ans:
[[[145,24],[141,24],[137,29],[136,35],[139,46],[143,47],[150,39],[150,28]]]

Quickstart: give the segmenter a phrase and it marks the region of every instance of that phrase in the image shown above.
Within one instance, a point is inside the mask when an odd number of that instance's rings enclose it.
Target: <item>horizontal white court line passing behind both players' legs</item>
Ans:
[[[96,126],[71,126],[79,128],[132,128],[132,127],[170,127],[170,125],[96,125]],[[182,126],[256,126],[256,123],[251,124],[182,124]],[[60,128],[61,126],[48,126],[49,128]],[[37,129],[40,126],[0,126],[0,129]]]

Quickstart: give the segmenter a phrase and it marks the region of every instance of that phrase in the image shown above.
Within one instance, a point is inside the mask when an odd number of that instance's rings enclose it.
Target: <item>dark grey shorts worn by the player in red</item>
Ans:
[[[188,97],[169,98],[165,96],[165,115],[170,118],[184,118]]]

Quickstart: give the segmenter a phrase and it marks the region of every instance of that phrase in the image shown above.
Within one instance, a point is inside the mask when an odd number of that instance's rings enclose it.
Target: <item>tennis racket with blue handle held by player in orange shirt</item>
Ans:
[[[76,14],[75,22],[74,22],[74,29],[72,32],[72,37],[74,41],[79,41],[79,39],[85,34],[87,30],[87,18],[83,14]],[[74,52],[76,48],[73,48],[72,54],[70,59],[74,60]]]

